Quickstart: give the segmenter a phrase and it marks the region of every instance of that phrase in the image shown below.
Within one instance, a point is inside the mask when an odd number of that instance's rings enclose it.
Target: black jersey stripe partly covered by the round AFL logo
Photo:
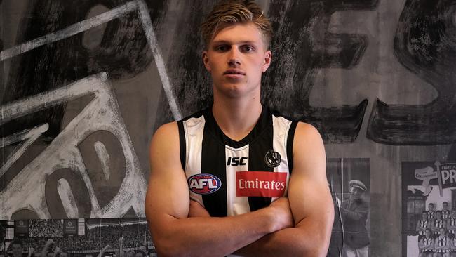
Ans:
[[[204,207],[212,217],[226,217],[228,215],[227,172],[224,162],[220,162],[224,159],[226,159],[224,145],[214,142],[212,134],[208,132],[208,127],[204,126],[201,146],[201,173],[210,173],[222,182],[219,190],[209,195],[202,195]]]

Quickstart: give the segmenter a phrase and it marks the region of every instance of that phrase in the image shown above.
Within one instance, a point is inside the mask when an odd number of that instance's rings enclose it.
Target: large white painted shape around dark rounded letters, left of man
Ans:
[[[10,219],[18,209],[33,209],[39,218],[52,218],[46,202],[46,180],[54,171],[68,168],[81,176],[88,190],[92,208],[90,216],[84,218],[123,217],[130,209],[135,211],[136,216],[145,216],[147,181],[106,73],[85,77],[58,89],[8,103],[0,107],[0,110],[4,110],[0,123],[59,103],[67,103],[83,95],[94,95],[94,98],[72,121],[69,121],[43,152],[6,184],[3,191],[0,191],[0,199],[4,199],[4,211],[0,212],[1,220]],[[78,148],[82,140],[95,131],[113,133],[121,143],[126,161],[126,175],[119,192],[105,206],[98,203],[98,195]],[[71,207],[71,204],[67,206]],[[74,208],[72,210],[74,211]],[[71,212],[70,209],[68,211]]]

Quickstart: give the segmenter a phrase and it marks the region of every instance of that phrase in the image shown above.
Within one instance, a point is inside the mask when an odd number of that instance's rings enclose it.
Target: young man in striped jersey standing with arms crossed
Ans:
[[[161,126],[150,147],[145,209],[156,251],[326,256],[334,210],[321,136],[260,103],[269,20],[255,1],[228,1],[203,37],[213,106]]]

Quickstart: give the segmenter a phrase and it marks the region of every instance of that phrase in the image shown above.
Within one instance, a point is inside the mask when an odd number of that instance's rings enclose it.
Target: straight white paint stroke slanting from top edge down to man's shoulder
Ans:
[[[176,120],[182,119],[182,114],[180,113],[179,107],[176,102],[176,97],[171,88],[171,84],[168,78],[168,72],[166,72],[165,62],[163,61],[161,50],[159,44],[156,40],[154,27],[152,27],[152,20],[150,19],[149,11],[147,5],[143,0],[137,0],[138,11],[142,23],[142,29],[146,35],[147,42],[149,43],[150,50],[152,50],[152,55],[154,55],[155,65],[157,70],[159,70],[159,75],[161,79],[161,84],[163,85],[163,90],[165,91],[166,98],[168,98],[168,104],[170,106],[173,117]]]

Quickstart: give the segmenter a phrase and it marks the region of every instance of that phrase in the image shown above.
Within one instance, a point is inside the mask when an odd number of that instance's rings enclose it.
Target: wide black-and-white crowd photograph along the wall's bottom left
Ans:
[[[156,256],[145,218],[6,220],[4,225],[8,256]]]

